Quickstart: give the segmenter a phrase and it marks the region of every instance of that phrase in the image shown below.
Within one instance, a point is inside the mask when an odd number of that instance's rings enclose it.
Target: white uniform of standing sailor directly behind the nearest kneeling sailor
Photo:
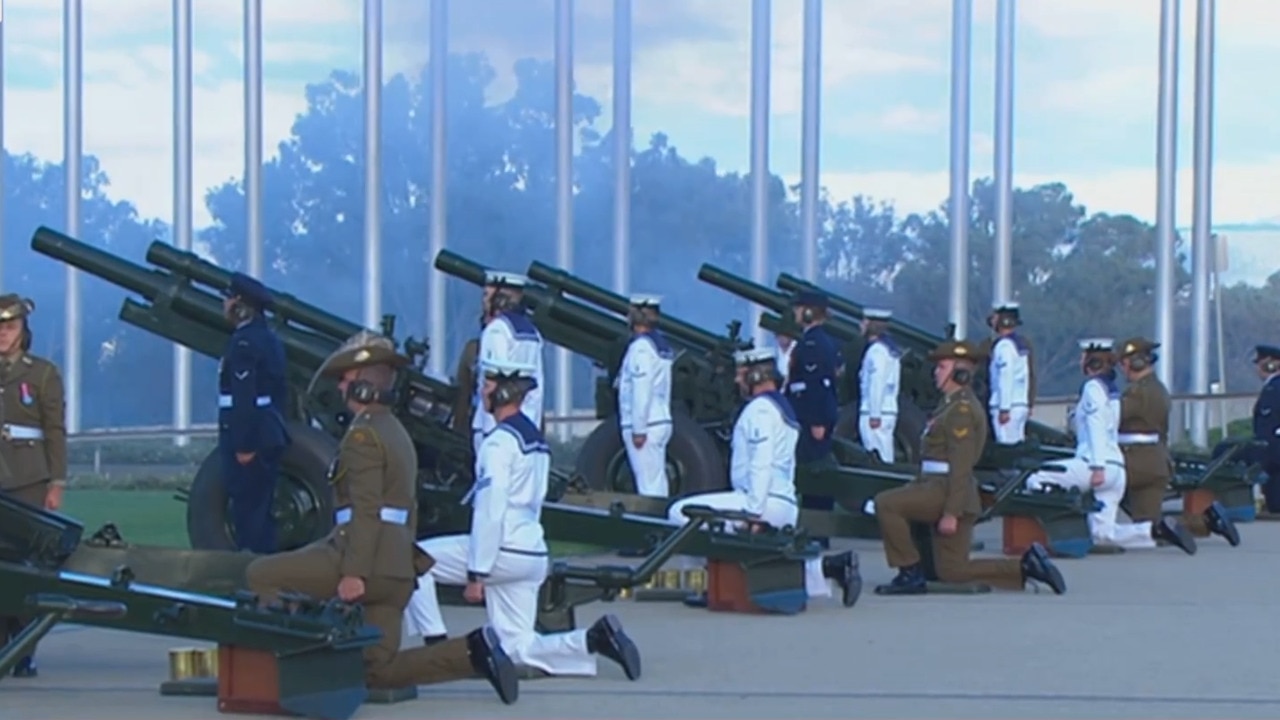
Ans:
[[[480,348],[476,352],[476,363],[516,363],[534,366],[534,380],[538,383],[534,389],[525,395],[525,401],[520,411],[534,421],[534,425],[543,424],[543,388],[547,387],[543,375],[543,336],[534,327],[529,315],[520,311],[502,313],[489,320],[480,332]],[[497,423],[493,415],[484,409],[484,373],[476,373],[475,413],[471,415],[471,442],[475,447],[476,457],[480,456],[480,443],[484,436],[493,432]]]

